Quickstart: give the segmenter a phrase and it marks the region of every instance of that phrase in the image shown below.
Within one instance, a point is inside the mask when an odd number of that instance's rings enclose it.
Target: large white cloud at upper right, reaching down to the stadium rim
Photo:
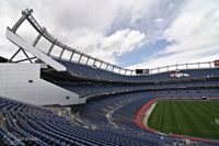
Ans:
[[[219,58],[219,1],[191,0],[166,29],[173,44],[134,67],[157,67]]]

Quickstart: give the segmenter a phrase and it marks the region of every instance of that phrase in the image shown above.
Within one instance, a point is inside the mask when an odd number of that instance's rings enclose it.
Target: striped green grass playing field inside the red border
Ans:
[[[159,101],[148,126],[166,134],[219,139],[219,101]]]

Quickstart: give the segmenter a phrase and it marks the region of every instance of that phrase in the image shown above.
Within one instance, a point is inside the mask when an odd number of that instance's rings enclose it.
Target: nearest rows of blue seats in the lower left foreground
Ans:
[[[4,98],[0,99],[0,106],[7,123],[7,130],[0,127],[4,145],[158,145],[155,139],[76,126],[41,106]]]

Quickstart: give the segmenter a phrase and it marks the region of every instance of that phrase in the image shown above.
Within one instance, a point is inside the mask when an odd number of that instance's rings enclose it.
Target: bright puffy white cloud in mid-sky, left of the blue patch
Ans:
[[[138,48],[146,42],[146,35],[136,30],[119,30],[110,36],[83,30],[76,34],[74,46],[81,52],[101,59],[116,63],[116,57]],[[87,41],[84,43],[84,41]]]

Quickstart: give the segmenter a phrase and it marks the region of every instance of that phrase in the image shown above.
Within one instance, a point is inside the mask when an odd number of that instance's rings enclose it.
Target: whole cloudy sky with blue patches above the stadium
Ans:
[[[26,8],[64,43],[123,67],[219,59],[219,0],[0,0],[0,56],[16,50],[5,29]],[[28,23],[18,33],[37,35]]]

